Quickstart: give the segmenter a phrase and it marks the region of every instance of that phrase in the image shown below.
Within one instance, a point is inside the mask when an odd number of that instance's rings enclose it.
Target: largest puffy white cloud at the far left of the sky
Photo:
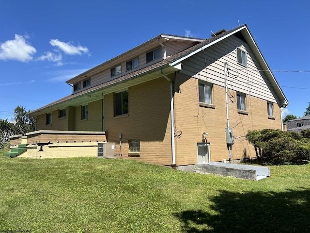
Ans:
[[[26,38],[29,38],[26,36]],[[7,40],[0,44],[0,60],[17,60],[20,62],[29,62],[33,59],[32,55],[36,49],[26,41],[22,35],[15,34],[14,40]]]

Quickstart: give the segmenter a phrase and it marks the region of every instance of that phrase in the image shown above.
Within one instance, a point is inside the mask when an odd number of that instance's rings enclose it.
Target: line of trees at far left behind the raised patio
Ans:
[[[31,110],[26,107],[17,106],[14,110],[13,121],[0,119],[0,149],[8,148],[10,136],[16,134],[26,135],[28,132],[35,131],[35,117],[27,115]]]

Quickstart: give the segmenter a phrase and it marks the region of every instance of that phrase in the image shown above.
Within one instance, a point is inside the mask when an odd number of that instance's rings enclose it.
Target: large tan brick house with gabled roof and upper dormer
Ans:
[[[160,34],[66,83],[71,95],[30,113],[38,131],[106,132],[122,158],[167,166],[255,157],[248,130],[281,129],[288,104],[247,25]]]

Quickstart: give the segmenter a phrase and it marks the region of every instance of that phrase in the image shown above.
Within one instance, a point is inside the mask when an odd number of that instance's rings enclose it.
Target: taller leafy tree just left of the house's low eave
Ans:
[[[26,107],[17,106],[14,110],[15,133],[23,134],[35,130],[35,117],[27,115],[31,111],[26,111]]]

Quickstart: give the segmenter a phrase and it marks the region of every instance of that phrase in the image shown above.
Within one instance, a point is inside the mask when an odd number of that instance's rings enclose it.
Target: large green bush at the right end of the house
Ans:
[[[272,165],[301,164],[310,160],[310,132],[282,132],[263,129],[246,135],[253,144],[260,162]]]

